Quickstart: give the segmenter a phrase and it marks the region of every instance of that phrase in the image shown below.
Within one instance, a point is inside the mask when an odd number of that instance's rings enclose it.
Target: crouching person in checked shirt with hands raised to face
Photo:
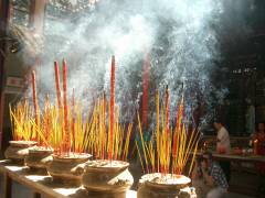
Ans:
[[[229,188],[222,168],[209,152],[197,158],[191,178],[198,198],[222,198]]]

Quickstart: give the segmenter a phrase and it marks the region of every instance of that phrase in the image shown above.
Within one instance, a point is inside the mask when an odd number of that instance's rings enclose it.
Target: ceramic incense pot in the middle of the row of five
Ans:
[[[92,155],[71,153],[68,155],[52,155],[53,160],[47,165],[49,175],[52,176],[54,183],[64,186],[81,186],[82,175],[84,173],[84,163]]]

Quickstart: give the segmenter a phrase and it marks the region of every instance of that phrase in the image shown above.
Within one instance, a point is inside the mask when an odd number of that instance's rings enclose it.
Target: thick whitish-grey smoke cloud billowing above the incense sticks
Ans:
[[[150,107],[156,89],[163,94],[168,85],[172,119],[182,91],[188,114],[200,105],[211,108],[227,92],[216,89],[210,78],[221,57],[216,26],[222,24],[223,9],[219,0],[102,0],[80,18],[47,19],[38,70],[40,98],[47,92],[55,96],[52,64],[65,58],[70,96],[74,89],[76,98],[92,105],[104,90],[109,92],[110,57],[115,55],[116,101],[124,121],[132,121],[148,53]],[[220,101],[211,101],[214,92]]]

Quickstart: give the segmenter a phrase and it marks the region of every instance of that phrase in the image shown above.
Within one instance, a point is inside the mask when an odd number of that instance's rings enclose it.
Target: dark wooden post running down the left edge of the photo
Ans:
[[[10,14],[10,0],[0,1],[0,38],[7,36]],[[6,42],[0,41],[0,51],[6,52]],[[2,148],[3,130],[3,86],[4,86],[4,54],[0,53],[0,150]]]

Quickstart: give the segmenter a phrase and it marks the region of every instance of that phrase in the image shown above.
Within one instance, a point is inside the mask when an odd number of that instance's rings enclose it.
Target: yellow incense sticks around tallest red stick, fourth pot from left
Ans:
[[[87,122],[86,129],[88,129],[86,135],[89,141],[86,142],[86,147],[95,158],[109,160],[109,131],[106,131],[106,116],[109,111],[106,111],[106,106],[110,106],[110,102],[106,101],[105,96],[97,100],[91,121]],[[113,129],[113,156],[112,160],[126,161],[129,153],[130,134],[132,124],[127,127],[121,125],[119,122],[119,109],[115,108],[115,122]],[[108,121],[109,123],[109,121]]]

